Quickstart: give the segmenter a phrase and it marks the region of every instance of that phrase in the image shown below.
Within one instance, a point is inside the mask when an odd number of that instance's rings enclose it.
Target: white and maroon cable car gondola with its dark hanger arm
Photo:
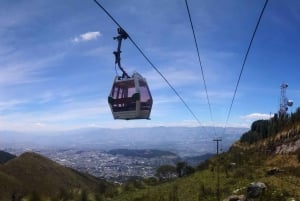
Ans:
[[[121,67],[121,43],[128,34],[121,28],[118,28],[118,33],[119,35],[114,37],[118,40],[118,49],[114,52],[115,63],[118,64],[123,75],[115,77],[108,96],[108,104],[114,119],[150,119],[153,100],[147,81],[137,72],[131,77],[128,76]]]

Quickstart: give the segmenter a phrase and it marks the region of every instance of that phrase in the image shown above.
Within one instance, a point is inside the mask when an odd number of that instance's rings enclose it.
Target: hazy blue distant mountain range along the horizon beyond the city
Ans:
[[[53,133],[0,132],[0,148],[58,147],[86,149],[159,149],[181,157],[216,151],[213,139],[222,137],[224,150],[238,140],[246,128],[152,127],[104,129],[87,128]]]

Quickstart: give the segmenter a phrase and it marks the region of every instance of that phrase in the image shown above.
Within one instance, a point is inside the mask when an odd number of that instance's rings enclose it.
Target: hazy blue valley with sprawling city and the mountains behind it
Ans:
[[[222,138],[224,151],[245,129],[227,130]],[[9,153],[36,152],[61,165],[116,182],[153,177],[159,166],[175,166],[179,161],[195,166],[216,153],[211,128],[94,129],[51,135],[0,132],[0,137],[1,149]]]

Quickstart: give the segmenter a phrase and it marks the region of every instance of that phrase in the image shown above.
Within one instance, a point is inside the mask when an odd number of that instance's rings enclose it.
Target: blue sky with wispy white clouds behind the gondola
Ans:
[[[0,0],[0,130],[199,126],[130,42],[121,63],[147,79],[151,120],[114,120],[117,25],[93,0]],[[224,126],[263,0],[188,0],[210,115],[184,0],[99,0],[200,121]],[[299,106],[300,2],[269,1],[226,126],[249,127],[278,111],[280,85]],[[118,72],[121,74],[121,72]]]

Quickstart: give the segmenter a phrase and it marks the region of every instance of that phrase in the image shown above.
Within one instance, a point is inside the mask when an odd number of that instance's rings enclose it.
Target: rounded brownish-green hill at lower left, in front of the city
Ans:
[[[51,198],[79,199],[96,194],[101,197],[109,188],[109,183],[92,176],[63,167],[36,153],[24,153],[0,166],[0,200],[10,200],[12,196],[40,200]],[[85,195],[83,195],[85,194]]]

